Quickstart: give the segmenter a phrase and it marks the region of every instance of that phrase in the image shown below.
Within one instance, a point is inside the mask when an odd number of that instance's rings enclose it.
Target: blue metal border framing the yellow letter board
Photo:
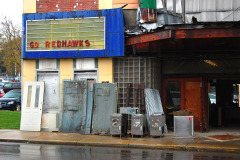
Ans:
[[[26,51],[26,21],[105,17],[105,50]],[[78,58],[124,56],[124,26],[121,8],[107,10],[47,12],[22,15],[22,58]]]

